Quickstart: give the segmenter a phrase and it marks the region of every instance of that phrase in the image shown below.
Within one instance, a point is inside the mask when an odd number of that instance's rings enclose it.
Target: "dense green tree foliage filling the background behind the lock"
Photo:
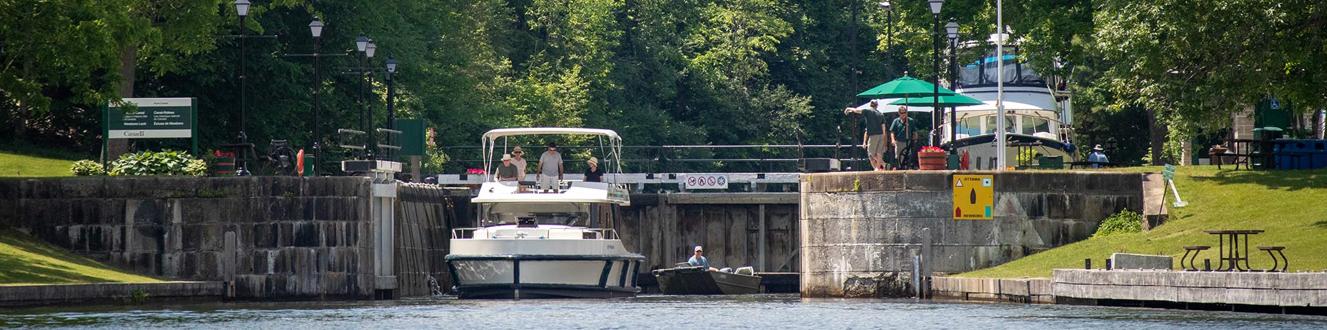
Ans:
[[[1140,117],[1184,135],[1217,129],[1269,94],[1296,109],[1327,99],[1316,87],[1327,78],[1319,3],[1005,5],[1019,57],[1071,78],[1079,144],[1116,140],[1128,148],[1120,160],[1147,150],[1137,143]],[[382,126],[387,57],[399,61],[397,118],[429,119],[445,147],[516,126],[606,127],[629,144],[853,143],[860,135],[837,109],[863,102],[857,91],[902,72],[936,74],[933,46],[943,44],[933,34],[936,17],[924,1],[892,9],[859,0],[255,0],[239,27],[230,0],[0,0],[8,17],[0,20],[0,111],[8,114],[0,134],[92,155],[101,105],[196,97],[200,144],[234,143],[242,41],[220,36],[245,33],[269,36],[243,41],[247,133],[260,152],[268,139],[309,148],[313,127],[324,146],[336,146],[336,129],[364,129],[360,109]],[[292,56],[313,52],[314,16],[326,24],[317,81],[313,58]],[[959,42],[1006,30],[995,27],[991,1],[949,0],[940,19],[955,19]],[[361,33],[378,45],[364,61],[372,74],[358,73],[353,40]],[[183,143],[138,140],[135,148]],[[447,152],[449,162],[433,166],[451,171],[471,158]],[[322,159],[348,154],[330,147]]]

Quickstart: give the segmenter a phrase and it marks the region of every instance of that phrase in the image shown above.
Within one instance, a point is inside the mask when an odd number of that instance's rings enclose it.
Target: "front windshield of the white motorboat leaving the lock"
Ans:
[[[594,224],[589,203],[484,203],[482,225],[556,224],[587,227]]]

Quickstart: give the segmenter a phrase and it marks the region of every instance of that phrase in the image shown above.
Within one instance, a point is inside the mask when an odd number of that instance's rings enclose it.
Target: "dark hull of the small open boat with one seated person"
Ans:
[[[664,294],[752,294],[760,292],[760,277],[681,266],[652,272]]]

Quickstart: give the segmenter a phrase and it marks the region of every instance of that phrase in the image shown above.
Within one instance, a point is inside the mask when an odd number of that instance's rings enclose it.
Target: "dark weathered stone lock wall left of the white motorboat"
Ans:
[[[238,297],[373,294],[368,178],[3,179],[0,193],[0,225],[137,273],[234,278]]]

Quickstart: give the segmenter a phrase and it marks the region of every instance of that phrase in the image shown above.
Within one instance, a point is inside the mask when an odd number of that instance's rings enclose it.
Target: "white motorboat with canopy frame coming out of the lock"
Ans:
[[[592,135],[602,148],[602,183],[560,182],[539,190],[531,182],[496,182],[492,176],[471,201],[479,228],[453,231],[453,290],[460,298],[594,298],[634,297],[645,256],[626,250],[617,232],[617,208],[629,205],[621,174],[621,138],[597,129],[499,129],[483,137],[486,172],[515,135]],[[499,143],[502,143],[499,146]],[[532,162],[533,163],[533,162]]]

